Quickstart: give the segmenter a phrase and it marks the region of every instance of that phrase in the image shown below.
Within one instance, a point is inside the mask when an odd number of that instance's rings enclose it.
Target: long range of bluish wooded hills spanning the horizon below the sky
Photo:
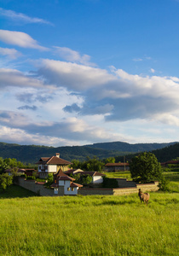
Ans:
[[[165,147],[172,147],[179,143],[94,143],[85,146],[66,146],[66,147],[47,147],[36,145],[19,145],[13,143],[0,143],[0,157],[15,158],[21,162],[35,163],[42,156],[51,156],[60,153],[61,158],[65,160],[86,160],[87,156],[93,158],[97,156],[99,159],[108,157],[123,156],[127,154],[135,154],[143,151],[159,150]],[[179,156],[179,154],[178,154]],[[171,157],[171,155],[170,155]],[[166,157],[165,157],[166,158]],[[170,159],[169,159],[170,160]]]

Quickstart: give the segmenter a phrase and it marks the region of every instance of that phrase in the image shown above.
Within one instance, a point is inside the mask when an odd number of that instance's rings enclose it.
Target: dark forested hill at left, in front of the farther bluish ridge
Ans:
[[[61,158],[65,160],[86,160],[86,157],[97,156],[104,159],[118,154],[124,154],[114,150],[105,150],[101,148],[90,148],[86,146],[72,146],[72,147],[46,147],[28,145],[22,146],[18,144],[0,143],[0,156],[3,158],[15,158],[21,162],[34,163],[42,156],[51,156],[55,153],[60,153]],[[127,153],[126,153],[127,154]]]

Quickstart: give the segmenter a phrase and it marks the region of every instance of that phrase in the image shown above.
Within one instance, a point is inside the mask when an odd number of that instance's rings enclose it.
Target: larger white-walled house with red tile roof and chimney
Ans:
[[[49,173],[57,173],[60,169],[62,172],[65,172],[72,165],[71,162],[61,159],[59,153],[51,157],[41,157],[36,164],[38,164],[38,175],[40,178],[46,178]]]

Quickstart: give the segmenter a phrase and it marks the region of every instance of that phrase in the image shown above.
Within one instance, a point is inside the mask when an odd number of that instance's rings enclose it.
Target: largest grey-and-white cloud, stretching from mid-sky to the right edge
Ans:
[[[157,114],[179,109],[179,79],[142,77],[111,67],[107,70],[65,61],[42,60],[38,75],[49,84],[84,96],[79,114],[103,114],[107,121],[157,120]],[[67,104],[69,106],[69,104]],[[175,113],[174,113],[175,116]]]

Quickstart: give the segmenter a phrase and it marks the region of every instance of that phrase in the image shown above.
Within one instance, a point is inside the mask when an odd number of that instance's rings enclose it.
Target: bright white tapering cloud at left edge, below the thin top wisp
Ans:
[[[0,40],[6,44],[14,44],[22,48],[32,48],[39,50],[49,50],[38,44],[36,40],[31,38],[25,32],[16,32],[9,30],[0,30]]]

